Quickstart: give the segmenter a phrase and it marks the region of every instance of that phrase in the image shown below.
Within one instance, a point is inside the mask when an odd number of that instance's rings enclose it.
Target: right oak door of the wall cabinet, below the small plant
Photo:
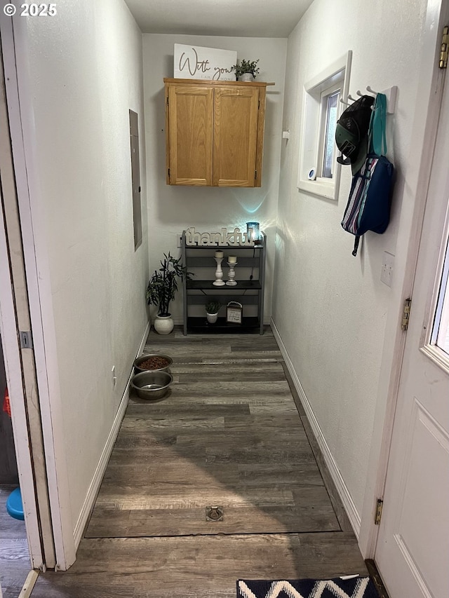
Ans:
[[[214,185],[255,186],[258,105],[258,88],[215,89]]]

